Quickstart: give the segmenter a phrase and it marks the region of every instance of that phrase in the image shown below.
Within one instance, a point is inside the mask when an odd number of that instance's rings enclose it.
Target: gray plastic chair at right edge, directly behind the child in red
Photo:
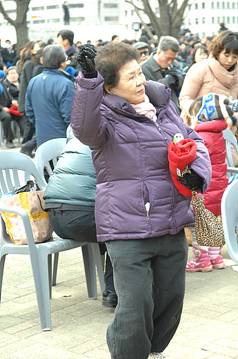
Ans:
[[[227,175],[228,175],[228,177],[230,177],[230,176],[234,176],[236,173],[238,173],[238,168],[235,167],[234,162],[233,162],[230,146],[232,145],[235,148],[235,151],[237,152],[237,155],[238,155],[238,144],[237,144],[237,139],[232,134],[231,130],[229,130],[229,128],[226,128],[226,130],[224,130],[222,132],[223,132],[225,143],[226,143],[226,164],[228,166],[227,167]]]

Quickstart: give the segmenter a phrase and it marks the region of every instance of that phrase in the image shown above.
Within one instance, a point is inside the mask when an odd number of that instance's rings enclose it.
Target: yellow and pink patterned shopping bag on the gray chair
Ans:
[[[20,192],[17,194],[4,195],[0,203],[4,206],[21,206],[29,215],[30,225],[34,242],[45,242],[52,236],[53,230],[50,226],[48,212],[43,210],[45,202],[43,194],[45,191]],[[1,212],[6,223],[8,234],[15,244],[27,244],[26,232],[20,215],[15,213]]]

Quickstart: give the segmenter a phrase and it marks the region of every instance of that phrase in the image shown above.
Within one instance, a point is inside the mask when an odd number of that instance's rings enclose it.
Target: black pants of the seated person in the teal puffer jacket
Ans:
[[[48,210],[50,225],[57,235],[61,238],[71,238],[72,240],[97,243],[97,233],[95,224],[95,213],[90,211],[75,210]],[[101,254],[106,251],[106,245],[99,243]],[[113,269],[108,253],[106,254],[106,271],[104,275],[106,289],[114,291]]]

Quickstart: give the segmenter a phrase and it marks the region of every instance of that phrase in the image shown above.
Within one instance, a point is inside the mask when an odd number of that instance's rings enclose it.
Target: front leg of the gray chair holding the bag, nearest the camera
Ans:
[[[34,287],[37,295],[41,329],[43,331],[49,331],[51,329],[51,313],[48,255],[45,253],[38,253],[37,257],[30,258],[30,262],[32,265]]]

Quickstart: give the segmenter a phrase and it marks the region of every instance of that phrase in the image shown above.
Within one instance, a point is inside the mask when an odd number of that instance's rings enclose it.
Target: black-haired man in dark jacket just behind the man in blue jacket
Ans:
[[[67,57],[66,60],[66,68],[72,66],[77,70],[75,76],[78,74],[79,70],[81,70],[79,63],[77,62],[77,56],[79,51],[77,50],[74,43],[74,32],[71,30],[61,30],[58,32],[57,39],[58,43],[63,46]]]

